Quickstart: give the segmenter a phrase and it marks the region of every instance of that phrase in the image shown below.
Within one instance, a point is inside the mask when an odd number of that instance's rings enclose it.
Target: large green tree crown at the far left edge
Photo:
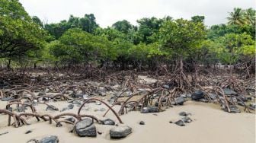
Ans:
[[[2,0],[0,5],[0,58],[26,56],[42,49],[46,33],[21,4],[17,0]]]

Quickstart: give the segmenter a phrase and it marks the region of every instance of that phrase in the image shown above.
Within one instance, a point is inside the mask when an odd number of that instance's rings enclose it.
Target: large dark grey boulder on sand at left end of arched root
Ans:
[[[85,118],[77,122],[74,126],[74,132],[79,137],[96,137],[96,127],[93,124],[92,119]]]

